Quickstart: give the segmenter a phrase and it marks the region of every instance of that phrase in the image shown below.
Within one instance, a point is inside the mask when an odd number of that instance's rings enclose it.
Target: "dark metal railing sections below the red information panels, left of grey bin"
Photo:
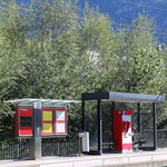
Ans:
[[[0,141],[0,160],[29,158],[29,139],[6,138]],[[42,156],[79,154],[79,140],[42,139]]]

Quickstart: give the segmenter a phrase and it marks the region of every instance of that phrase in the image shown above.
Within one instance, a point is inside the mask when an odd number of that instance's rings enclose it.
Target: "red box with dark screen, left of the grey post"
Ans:
[[[32,108],[16,107],[16,137],[32,136]]]

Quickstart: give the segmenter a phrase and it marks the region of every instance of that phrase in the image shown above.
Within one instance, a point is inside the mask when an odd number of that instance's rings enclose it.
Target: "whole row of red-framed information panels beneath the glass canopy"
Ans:
[[[33,118],[37,112],[41,117]],[[36,120],[36,122],[33,122]],[[66,109],[41,109],[16,107],[16,137],[31,137],[37,125],[41,129],[41,136],[67,135],[67,110]]]

